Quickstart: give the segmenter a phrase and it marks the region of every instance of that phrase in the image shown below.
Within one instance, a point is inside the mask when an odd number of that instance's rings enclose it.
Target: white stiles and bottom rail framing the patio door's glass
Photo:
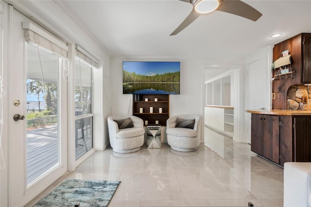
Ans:
[[[57,179],[59,179],[62,175],[64,175],[67,170],[68,170],[68,153],[67,153],[67,113],[64,113],[64,111],[67,111],[67,86],[64,87],[64,84],[66,85],[66,81],[63,80],[62,76],[60,75],[59,77],[59,137],[60,137],[60,150],[61,150],[61,162],[60,166],[57,168],[53,169],[49,174],[43,176],[37,183],[27,187],[27,176],[26,176],[26,133],[25,133],[25,128],[26,128],[26,121],[13,121],[13,115],[16,113],[19,114],[24,114],[26,113],[26,86],[25,86],[25,69],[26,69],[26,48],[25,48],[25,40],[24,36],[22,35],[23,29],[21,28],[21,24],[17,25],[18,21],[30,21],[33,22],[29,17],[26,17],[25,15],[19,13],[16,9],[13,8],[13,6],[9,6],[9,65],[11,66],[11,70],[9,71],[9,79],[10,79],[10,84],[9,84],[9,89],[10,93],[8,94],[9,97],[9,102],[8,104],[8,111],[9,111],[9,134],[11,135],[11,138],[9,139],[9,158],[8,158],[8,165],[9,165],[9,206],[14,206],[14,205],[26,205],[29,203],[32,199],[34,199],[38,194],[40,194],[43,190],[48,188],[53,182],[55,182]],[[16,24],[16,25],[14,25]],[[17,28],[20,26],[20,30],[18,29],[15,31],[14,28]],[[22,38],[22,39],[21,39]],[[17,43],[17,41],[18,43]],[[23,48],[20,49],[19,51],[19,56],[16,55],[17,50],[15,50],[15,47],[19,47],[20,45],[23,44]],[[16,46],[17,45],[17,46]],[[19,45],[19,46],[18,46]],[[21,54],[22,53],[22,54]],[[14,55],[13,55],[14,54]],[[14,60],[12,57],[17,56],[17,58],[22,59],[20,61]],[[23,57],[23,58],[21,58]],[[18,63],[17,63],[18,62]],[[12,90],[14,88],[17,88],[17,86],[13,85],[15,78],[18,76],[16,75],[16,71],[18,68],[21,68],[23,71],[20,72],[19,78],[22,78],[19,83],[19,93],[12,93]],[[14,73],[15,72],[15,73]],[[61,71],[59,69],[59,74],[61,74]],[[19,71],[18,71],[19,73]],[[17,78],[18,80],[18,78]],[[20,87],[23,88],[23,97],[21,97],[21,89]],[[65,88],[65,89],[63,89]],[[18,97],[19,96],[19,97]],[[13,100],[15,99],[20,99],[21,105],[19,107],[16,107],[13,105]],[[25,107],[24,107],[24,105]],[[17,136],[14,137],[13,131],[20,131],[16,130],[18,128],[23,128],[23,132],[19,132],[18,135],[23,134],[23,141],[17,142]],[[19,136],[18,136],[19,137]],[[21,146],[22,145],[22,146]],[[19,151],[17,151],[17,149]],[[22,152],[20,152],[22,151]],[[17,153],[20,152],[20,153]],[[16,159],[17,154],[19,159]],[[22,159],[22,160],[21,160]],[[22,176],[21,176],[22,174]],[[23,187],[20,188],[20,184],[23,183]],[[19,188],[17,188],[17,185],[19,185]],[[20,189],[20,190],[19,190]],[[14,198],[14,195],[17,195],[16,198]],[[14,203],[16,202],[16,203]],[[20,203],[18,203],[20,202]]]

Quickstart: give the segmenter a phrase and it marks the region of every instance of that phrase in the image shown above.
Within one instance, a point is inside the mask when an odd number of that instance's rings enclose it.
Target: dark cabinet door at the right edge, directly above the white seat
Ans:
[[[294,118],[295,162],[311,162],[311,118]]]

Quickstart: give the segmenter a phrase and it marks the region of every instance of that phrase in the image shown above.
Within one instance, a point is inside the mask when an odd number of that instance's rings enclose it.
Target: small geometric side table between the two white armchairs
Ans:
[[[159,149],[161,148],[161,125],[147,125],[147,148]]]

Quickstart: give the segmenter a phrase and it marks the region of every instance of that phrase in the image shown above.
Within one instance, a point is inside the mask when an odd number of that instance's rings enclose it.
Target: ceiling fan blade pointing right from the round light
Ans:
[[[262,16],[259,11],[241,0],[224,0],[217,10],[253,21],[257,21]]]

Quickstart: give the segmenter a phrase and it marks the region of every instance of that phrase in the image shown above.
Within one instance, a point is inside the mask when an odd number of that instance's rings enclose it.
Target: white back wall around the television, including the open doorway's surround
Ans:
[[[178,114],[197,114],[202,118],[202,129],[205,123],[205,69],[233,69],[231,80],[231,105],[235,107],[234,140],[245,142],[243,137],[244,106],[244,61],[243,60],[190,60],[176,58],[116,57],[110,62],[111,71],[111,113],[131,114],[132,95],[122,94],[122,61],[180,61],[180,95],[170,95],[170,116]],[[162,131],[163,132],[163,131]],[[163,134],[163,133],[162,133]],[[166,142],[166,138],[161,138]],[[201,142],[204,142],[202,130]]]

